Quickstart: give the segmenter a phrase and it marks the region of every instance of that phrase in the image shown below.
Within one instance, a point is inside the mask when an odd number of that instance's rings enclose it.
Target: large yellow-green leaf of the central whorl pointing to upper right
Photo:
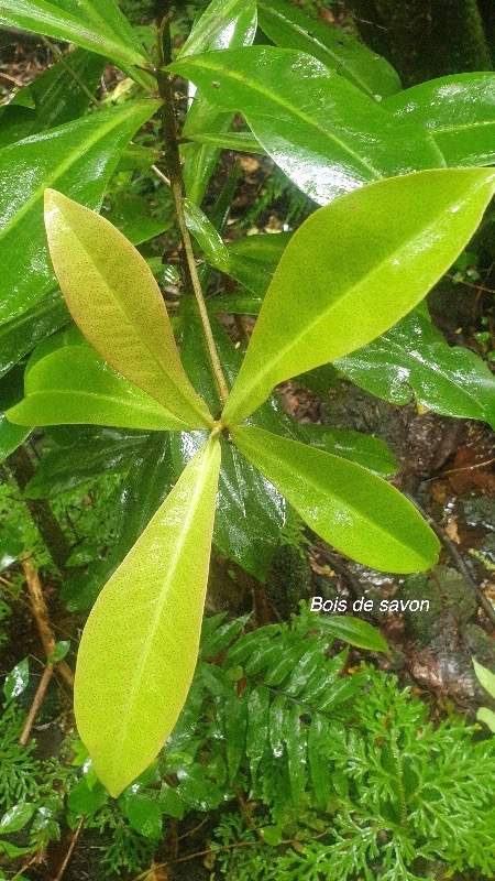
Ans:
[[[435,170],[382,181],[312,214],[278,263],[226,423],[245,418],[279,382],[396,324],[452,264],[494,191],[495,172]]]

